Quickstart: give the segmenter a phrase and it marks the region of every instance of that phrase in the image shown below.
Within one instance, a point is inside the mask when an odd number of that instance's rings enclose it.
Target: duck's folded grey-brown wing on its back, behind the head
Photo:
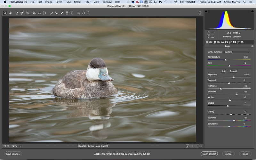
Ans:
[[[61,83],[64,83],[66,88],[75,89],[81,88],[82,82],[86,79],[86,70],[73,70],[62,78]]]

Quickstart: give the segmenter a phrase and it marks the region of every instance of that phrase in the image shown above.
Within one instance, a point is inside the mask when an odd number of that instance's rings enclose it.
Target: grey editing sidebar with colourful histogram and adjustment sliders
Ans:
[[[223,154],[229,148],[227,156],[250,156],[254,10],[205,10],[204,14],[204,147],[223,148]]]

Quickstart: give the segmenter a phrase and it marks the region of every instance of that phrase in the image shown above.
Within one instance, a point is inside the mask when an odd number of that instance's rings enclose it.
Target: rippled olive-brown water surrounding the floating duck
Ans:
[[[195,142],[196,19],[10,18],[10,142]],[[117,96],[52,95],[94,57]]]

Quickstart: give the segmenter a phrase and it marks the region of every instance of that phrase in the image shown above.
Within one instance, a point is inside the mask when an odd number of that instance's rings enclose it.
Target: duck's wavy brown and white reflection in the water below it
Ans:
[[[70,100],[64,98],[54,98],[56,105],[62,108],[61,110],[71,111],[67,117],[89,117],[89,119],[96,122],[96,124],[89,127],[92,135],[99,139],[106,139],[108,137],[106,128],[110,127],[110,114],[112,107],[116,103],[105,98],[91,99],[91,100]]]

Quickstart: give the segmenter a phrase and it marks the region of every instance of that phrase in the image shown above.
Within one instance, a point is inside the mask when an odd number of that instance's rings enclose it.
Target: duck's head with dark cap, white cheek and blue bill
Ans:
[[[108,76],[108,69],[104,60],[101,58],[93,58],[88,65],[86,77],[88,81],[114,81]]]

